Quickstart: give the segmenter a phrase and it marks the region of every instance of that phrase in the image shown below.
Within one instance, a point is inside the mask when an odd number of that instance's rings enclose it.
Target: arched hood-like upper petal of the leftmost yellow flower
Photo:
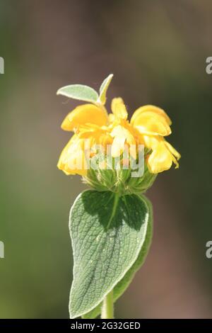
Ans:
[[[61,124],[61,128],[70,131],[73,130],[73,128],[77,128],[78,125],[86,123],[102,126],[107,124],[107,119],[108,116],[105,110],[102,110],[93,104],[83,104],[77,106],[73,111],[66,115],[66,118]]]

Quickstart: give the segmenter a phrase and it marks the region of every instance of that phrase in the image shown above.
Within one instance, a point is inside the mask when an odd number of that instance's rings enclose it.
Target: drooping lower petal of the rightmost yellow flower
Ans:
[[[172,154],[164,143],[160,142],[148,158],[148,169],[152,174],[158,174],[170,169],[171,166]]]

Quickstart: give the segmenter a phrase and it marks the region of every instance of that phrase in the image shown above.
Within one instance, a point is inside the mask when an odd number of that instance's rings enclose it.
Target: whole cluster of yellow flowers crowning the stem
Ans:
[[[108,84],[105,89],[107,87]],[[104,90],[104,87],[102,89]],[[101,94],[104,95],[102,98]],[[131,157],[136,160],[139,145],[143,145],[149,174],[158,174],[170,169],[172,163],[175,164],[175,168],[179,167],[177,161],[180,154],[165,140],[165,137],[171,134],[172,122],[162,108],[152,105],[141,106],[133,113],[131,120],[128,120],[122,98],[112,99],[112,113],[108,114],[103,105],[106,101],[105,96],[106,91],[103,91],[96,101],[77,106],[66,115],[61,128],[74,132],[74,135],[61,152],[57,164],[59,169],[66,174],[87,176],[90,158],[101,149],[107,149],[108,145],[111,145],[111,158],[121,157],[122,166],[126,166],[128,161],[123,155],[126,149],[129,149]],[[84,100],[87,101],[86,98]],[[86,149],[86,145],[91,149]],[[107,163],[101,162],[99,165],[103,164]]]

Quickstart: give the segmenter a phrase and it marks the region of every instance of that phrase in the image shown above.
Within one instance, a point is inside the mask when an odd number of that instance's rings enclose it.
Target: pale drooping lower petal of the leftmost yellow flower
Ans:
[[[64,171],[65,174],[85,176],[88,168],[83,147],[84,140],[80,140],[77,135],[73,135],[61,152],[57,164],[58,169]]]

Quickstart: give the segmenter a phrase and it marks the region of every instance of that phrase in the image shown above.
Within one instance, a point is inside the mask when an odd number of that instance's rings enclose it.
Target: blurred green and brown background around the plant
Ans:
[[[211,11],[209,0],[1,0],[1,318],[69,317],[68,216],[84,186],[57,170],[77,103],[56,91],[98,89],[111,72],[108,100],[164,108],[182,154],[147,193],[153,244],[116,317],[211,317]]]

